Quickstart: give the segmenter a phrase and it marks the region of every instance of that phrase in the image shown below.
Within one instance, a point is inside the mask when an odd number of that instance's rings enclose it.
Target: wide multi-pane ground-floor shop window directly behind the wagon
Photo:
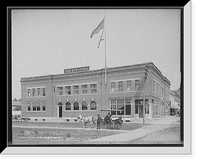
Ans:
[[[111,100],[112,115],[131,115],[131,99]]]

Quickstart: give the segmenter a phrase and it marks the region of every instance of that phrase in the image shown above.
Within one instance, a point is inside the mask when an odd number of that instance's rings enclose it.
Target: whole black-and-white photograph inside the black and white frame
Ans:
[[[181,8],[12,9],[10,144],[184,147],[181,17]]]

